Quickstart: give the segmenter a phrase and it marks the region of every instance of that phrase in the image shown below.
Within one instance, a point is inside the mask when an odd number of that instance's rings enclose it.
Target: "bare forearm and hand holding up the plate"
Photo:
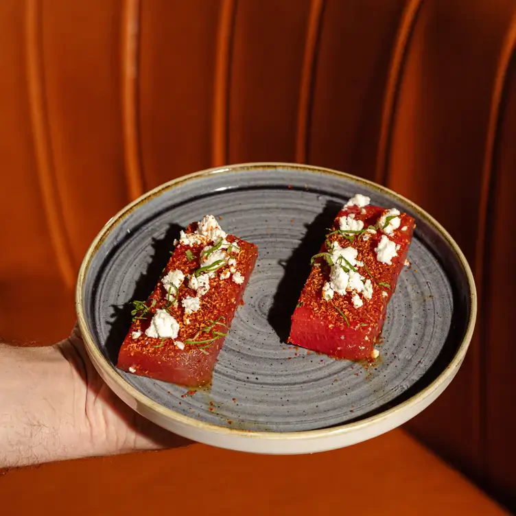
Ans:
[[[188,443],[110,391],[77,330],[52,347],[0,344],[0,468]]]

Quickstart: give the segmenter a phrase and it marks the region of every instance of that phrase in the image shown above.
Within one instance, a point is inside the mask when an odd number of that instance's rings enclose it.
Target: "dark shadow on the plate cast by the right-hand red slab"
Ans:
[[[290,318],[296,309],[299,294],[310,273],[310,259],[316,255],[324,242],[327,228],[331,227],[338,212],[342,209],[341,202],[329,200],[325,208],[306,226],[306,233],[301,244],[294,249],[290,258],[284,264],[285,274],[281,279],[278,290],[274,294],[268,321],[281,342],[286,342],[290,333]]]

